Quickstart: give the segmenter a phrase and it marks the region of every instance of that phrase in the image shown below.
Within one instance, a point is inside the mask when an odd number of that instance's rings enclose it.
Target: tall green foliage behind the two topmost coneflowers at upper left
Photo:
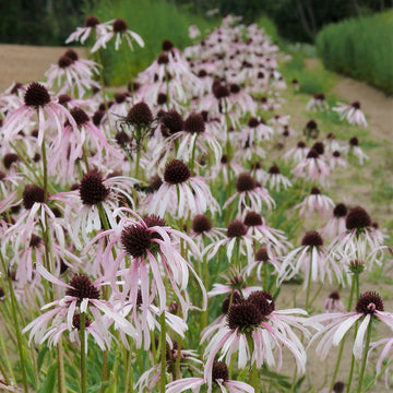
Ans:
[[[107,49],[100,51],[105,82],[109,85],[126,84],[147,68],[160,53],[164,39],[170,39],[180,49],[191,45],[188,36],[191,24],[195,24],[202,34],[215,26],[215,21],[190,14],[165,0],[100,0],[91,13],[103,22],[123,19],[128,27],[141,35],[145,43],[144,48],[135,45],[133,51],[127,45],[116,51],[114,41],[110,41]]]

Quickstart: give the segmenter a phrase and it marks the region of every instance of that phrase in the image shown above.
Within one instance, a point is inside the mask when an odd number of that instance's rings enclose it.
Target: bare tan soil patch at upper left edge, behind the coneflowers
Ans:
[[[35,47],[25,45],[0,45],[0,92],[12,82],[33,82],[44,79],[49,66],[56,63],[67,47]],[[81,57],[85,50],[73,48]]]

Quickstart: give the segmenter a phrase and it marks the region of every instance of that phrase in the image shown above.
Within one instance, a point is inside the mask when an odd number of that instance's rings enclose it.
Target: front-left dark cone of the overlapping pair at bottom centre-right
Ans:
[[[251,332],[263,320],[259,307],[248,300],[240,300],[230,306],[227,313],[227,323],[230,330],[239,329],[241,333]]]

